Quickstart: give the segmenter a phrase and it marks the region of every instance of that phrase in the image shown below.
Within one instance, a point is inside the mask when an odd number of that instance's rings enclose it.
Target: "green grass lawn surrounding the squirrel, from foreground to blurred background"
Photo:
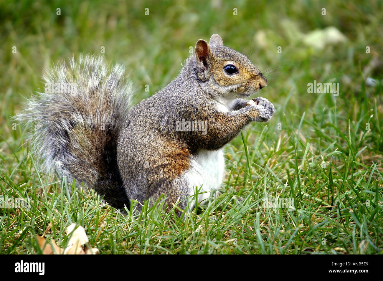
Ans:
[[[40,253],[35,235],[43,234],[65,246],[73,222],[103,254],[382,253],[383,89],[366,83],[383,78],[382,6],[2,2],[0,195],[29,198],[31,208],[0,208],[0,253]],[[347,41],[323,49],[304,44],[306,34],[327,26]],[[226,147],[221,196],[184,219],[147,206],[139,217],[123,216],[96,194],[39,173],[26,132],[11,116],[23,96],[43,88],[43,67],[105,46],[108,61],[126,66],[138,102],[175,78],[189,47],[213,33],[263,72],[282,67],[266,74],[268,87],[259,93],[275,105],[275,116],[267,125],[251,124]],[[308,93],[314,80],[338,82],[339,96]],[[266,207],[265,198],[290,198],[293,207]]]

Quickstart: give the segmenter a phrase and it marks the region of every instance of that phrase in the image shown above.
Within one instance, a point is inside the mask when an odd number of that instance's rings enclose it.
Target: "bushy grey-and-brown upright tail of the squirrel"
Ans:
[[[56,170],[104,195],[113,207],[128,205],[116,161],[119,127],[133,92],[124,68],[102,57],[81,56],[48,69],[44,91],[18,119],[33,124],[33,152],[46,172]]]

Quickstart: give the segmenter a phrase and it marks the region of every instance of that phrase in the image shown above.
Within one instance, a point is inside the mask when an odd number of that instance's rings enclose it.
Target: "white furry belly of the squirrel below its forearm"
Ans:
[[[221,186],[225,162],[223,150],[201,150],[191,160],[191,167],[184,174],[189,184],[190,196],[195,195],[198,188],[198,201],[214,196],[215,190]]]

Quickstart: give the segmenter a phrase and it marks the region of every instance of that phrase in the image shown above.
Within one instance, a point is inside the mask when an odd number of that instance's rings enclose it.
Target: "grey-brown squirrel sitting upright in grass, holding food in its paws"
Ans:
[[[196,191],[198,201],[210,198],[222,183],[223,147],[275,113],[266,98],[249,100],[267,79],[218,34],[198,40],[177,78],[133,107],[124,68],[110,69],[100,56],[72,57],[43,79],[76,87],[36,93],[18,115],[33,119],[41,169],[93,188],[117,209],[131,200],[154,204],[162,194],[168,208],[182,210]]]

